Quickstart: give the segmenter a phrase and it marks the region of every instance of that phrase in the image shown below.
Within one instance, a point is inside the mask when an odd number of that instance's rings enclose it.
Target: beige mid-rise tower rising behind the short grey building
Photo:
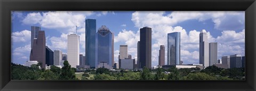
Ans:
[[[119,47],[119,57],[118,57],[118,66],[121,68],[121,59],[128,58],[128,46],[120,45]]]

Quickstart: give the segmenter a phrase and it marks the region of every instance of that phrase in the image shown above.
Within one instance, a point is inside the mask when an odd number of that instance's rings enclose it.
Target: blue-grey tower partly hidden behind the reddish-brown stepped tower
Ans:
[[[40,27],[31,26],[31,49],[33,48],[34,39],[38,37],[38,31],[41,31]]]

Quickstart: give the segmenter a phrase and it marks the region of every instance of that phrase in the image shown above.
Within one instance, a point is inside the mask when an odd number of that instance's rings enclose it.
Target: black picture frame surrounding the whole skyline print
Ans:
[[[11,80],[11,11],[245,11],[245,80]],[[255,0],[0,0],[0,90],[255,90]]]

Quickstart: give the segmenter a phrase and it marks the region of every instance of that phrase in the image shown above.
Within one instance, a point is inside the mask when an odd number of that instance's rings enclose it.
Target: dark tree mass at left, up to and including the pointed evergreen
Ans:
[[[26,67],[11,63],[12,80],[78,80],[75,68],[71,68],[68,61],[64,61],[63,67],[51,66],[51,69],[39,69],[41,63]]]

